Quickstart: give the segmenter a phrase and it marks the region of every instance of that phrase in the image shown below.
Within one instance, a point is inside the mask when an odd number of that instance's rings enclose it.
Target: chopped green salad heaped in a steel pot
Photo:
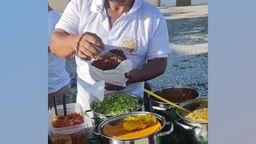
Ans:
[[[103,102],[94,103],[94,111],[98,114],[116,116],[138,110],[141,106],[138,98],[128,94],[110,94],[106,96]]]

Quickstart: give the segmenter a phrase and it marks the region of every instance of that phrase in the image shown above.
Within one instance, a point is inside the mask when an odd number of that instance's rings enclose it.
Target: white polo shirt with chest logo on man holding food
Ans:
[[[69,34],[90,32],[102,38],[105,45],[124,50],[133,62],[133,69],[146,64],[148,59],[164,58],[170,54],[168,30],[162,13],[143,0],[135,0],[131,10],[122,14],[110,29],[104,0],[71,0],[55,27]],[[94,84],[88,63],[76,57],[78,73],[77,102],[84,110],[90,109],[94,99],[88,89]],[[143,96],[144,82],[133,83],[122,92]],[[106,94],[116,91],[107,91]]]

